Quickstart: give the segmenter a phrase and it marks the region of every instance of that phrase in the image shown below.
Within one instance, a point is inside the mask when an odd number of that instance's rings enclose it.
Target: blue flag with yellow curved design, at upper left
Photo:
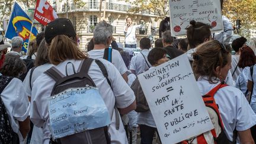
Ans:
[[[22,50],[27,52],[28,40],[36,39],[36,35],[38,33],[36,27],[33,27],[30,36],[31,25],[32,21],[28,15],[23,11],[23,9],[21,9],[20,5],[15,2],[9,19],[7,31],[5,32],[5,37],[12,39],[12,37],[20,36],[23,39]]]

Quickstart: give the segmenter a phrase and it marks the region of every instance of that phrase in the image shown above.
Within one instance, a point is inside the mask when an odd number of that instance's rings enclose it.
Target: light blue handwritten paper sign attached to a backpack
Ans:
[[[53,138],[110,124],[110,115],[97,88],[70,88],[49,100]]]

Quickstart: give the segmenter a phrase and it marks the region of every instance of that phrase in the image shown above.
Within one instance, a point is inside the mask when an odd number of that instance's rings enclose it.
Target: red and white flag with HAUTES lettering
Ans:
[[[37,0],[34,19],[43,25],[47,25],[57,18],[56,11],[46,0]]]

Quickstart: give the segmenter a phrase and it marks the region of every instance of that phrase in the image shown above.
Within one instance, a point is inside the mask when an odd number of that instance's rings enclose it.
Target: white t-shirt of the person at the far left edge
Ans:
[[[0,75],[2,75],[0,73]],[[18,134],[20,143],[24,143],[23,136],[20,133],[18,121],[24,121],[30,111],[30,103],[25,94],[23,83],[20,79],[13,78],[1,93],[2,101],[11,123],[12,130]]]

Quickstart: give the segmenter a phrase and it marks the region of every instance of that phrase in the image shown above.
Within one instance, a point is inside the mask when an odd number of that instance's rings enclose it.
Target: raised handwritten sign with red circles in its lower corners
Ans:
[[[212,25],[212,31],[222,31],[219,0],[169,0],[171,34],[182,36],[191,20]]]

